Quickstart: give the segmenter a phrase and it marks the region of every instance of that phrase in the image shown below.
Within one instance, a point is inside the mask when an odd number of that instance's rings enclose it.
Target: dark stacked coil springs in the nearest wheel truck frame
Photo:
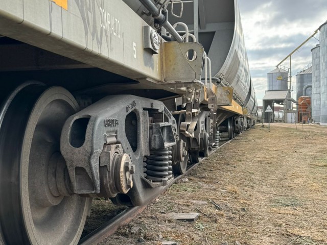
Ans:
[[[173,178],[171,148],[150,151],[150,156],[144,160],[144,170],[148,180],[153,182],[162,182]]]

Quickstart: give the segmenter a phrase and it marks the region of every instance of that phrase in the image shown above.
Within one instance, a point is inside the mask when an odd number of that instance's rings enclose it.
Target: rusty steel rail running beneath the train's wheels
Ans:
[[[220,143],[222,143],[222,144],[215,151],[222,148],[226,143],[230,142],[231,140],[232,139],[230,139],[230,140],[221,140]],[[195,163],[195,164],[191,165],[186,170],[185,174],[179,175],[178,177],[175,177],[174,181],[172,183],[170,183],[169,185],[167,185],[162,192],[165,192],[172,184],[176,183],[176,181],[178,181],[179,179],[181,179],[185,175],[188,175],[192,171],[192,169],[197,167],[198,164],[200,162],[202,162],[203,160],[205,160],[205,159],[207,159],[207,158],[201,158],[201,160],[198,163]],[[153,200],[151,202],[149,202],[148,204],[144,205],[144,206],[128,207],[123,212],[121,212],[118,215],[114,216],[108,222],[106,222],[105,224],[103,224],[102,226],[97,228],[96,230],[94,230],[91,233],[89,233],[88,235],[84,236],[79,241],[79,245],[96,244],[96,243],[102,241],[104,238],[112,235],[120,226],[128,224],[130,222],[130,220],[132,220],[139,213],[141,213],[152,202],[153,202]]]

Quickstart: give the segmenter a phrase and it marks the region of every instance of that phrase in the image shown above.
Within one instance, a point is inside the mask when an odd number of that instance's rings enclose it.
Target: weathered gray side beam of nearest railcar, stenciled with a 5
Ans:
[[[0,3],[2,35],[131,79],[160,81],[159,55],[143,49],[145,25],[119,0],[68,1],[67,10],[44,0]]]

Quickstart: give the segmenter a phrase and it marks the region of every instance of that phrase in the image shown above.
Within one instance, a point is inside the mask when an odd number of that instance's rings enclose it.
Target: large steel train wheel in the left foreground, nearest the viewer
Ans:
[[[0,224],[6,244],[77,244],[90,199],[69,192],[61,128],[78,110],[61,87],[26,84],[0,112]]]

